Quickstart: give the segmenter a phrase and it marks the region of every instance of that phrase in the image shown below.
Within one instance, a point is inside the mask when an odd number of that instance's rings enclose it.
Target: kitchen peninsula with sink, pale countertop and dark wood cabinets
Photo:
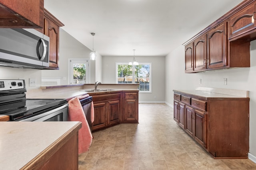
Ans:
[[[28,90],[27,98],[54,98],[70,100],[89,94],[94,103],[92,131],[119,123],[138,123],[138,84],[72,84],[42,86]]]

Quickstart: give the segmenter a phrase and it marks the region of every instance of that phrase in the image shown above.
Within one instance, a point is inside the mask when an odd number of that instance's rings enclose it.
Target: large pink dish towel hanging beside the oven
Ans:
[[[87,152],[92,144],[92,133],[84,115],[84,110],[78,97],[68,101],[68,121],[82,122],[82,128],[78,131],[78,154]]]

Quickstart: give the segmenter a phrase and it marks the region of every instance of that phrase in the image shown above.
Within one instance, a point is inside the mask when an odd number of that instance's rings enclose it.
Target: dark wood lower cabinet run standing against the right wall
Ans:
[[[212,157],[248,158],[250,98],[205,96],[174,90],[174,121]]]

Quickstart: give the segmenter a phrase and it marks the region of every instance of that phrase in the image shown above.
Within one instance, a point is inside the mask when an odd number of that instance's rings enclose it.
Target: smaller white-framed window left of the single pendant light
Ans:
[[[70,60],[70,84],[86,84],[89,80],[89,60]]]

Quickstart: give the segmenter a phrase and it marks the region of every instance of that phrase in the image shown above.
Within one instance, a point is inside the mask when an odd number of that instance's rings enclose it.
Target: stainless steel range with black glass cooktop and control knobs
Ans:
[[[10,121],[67,121],[66,99],[26,99],[24,80],[0,80],[0,115]]]

